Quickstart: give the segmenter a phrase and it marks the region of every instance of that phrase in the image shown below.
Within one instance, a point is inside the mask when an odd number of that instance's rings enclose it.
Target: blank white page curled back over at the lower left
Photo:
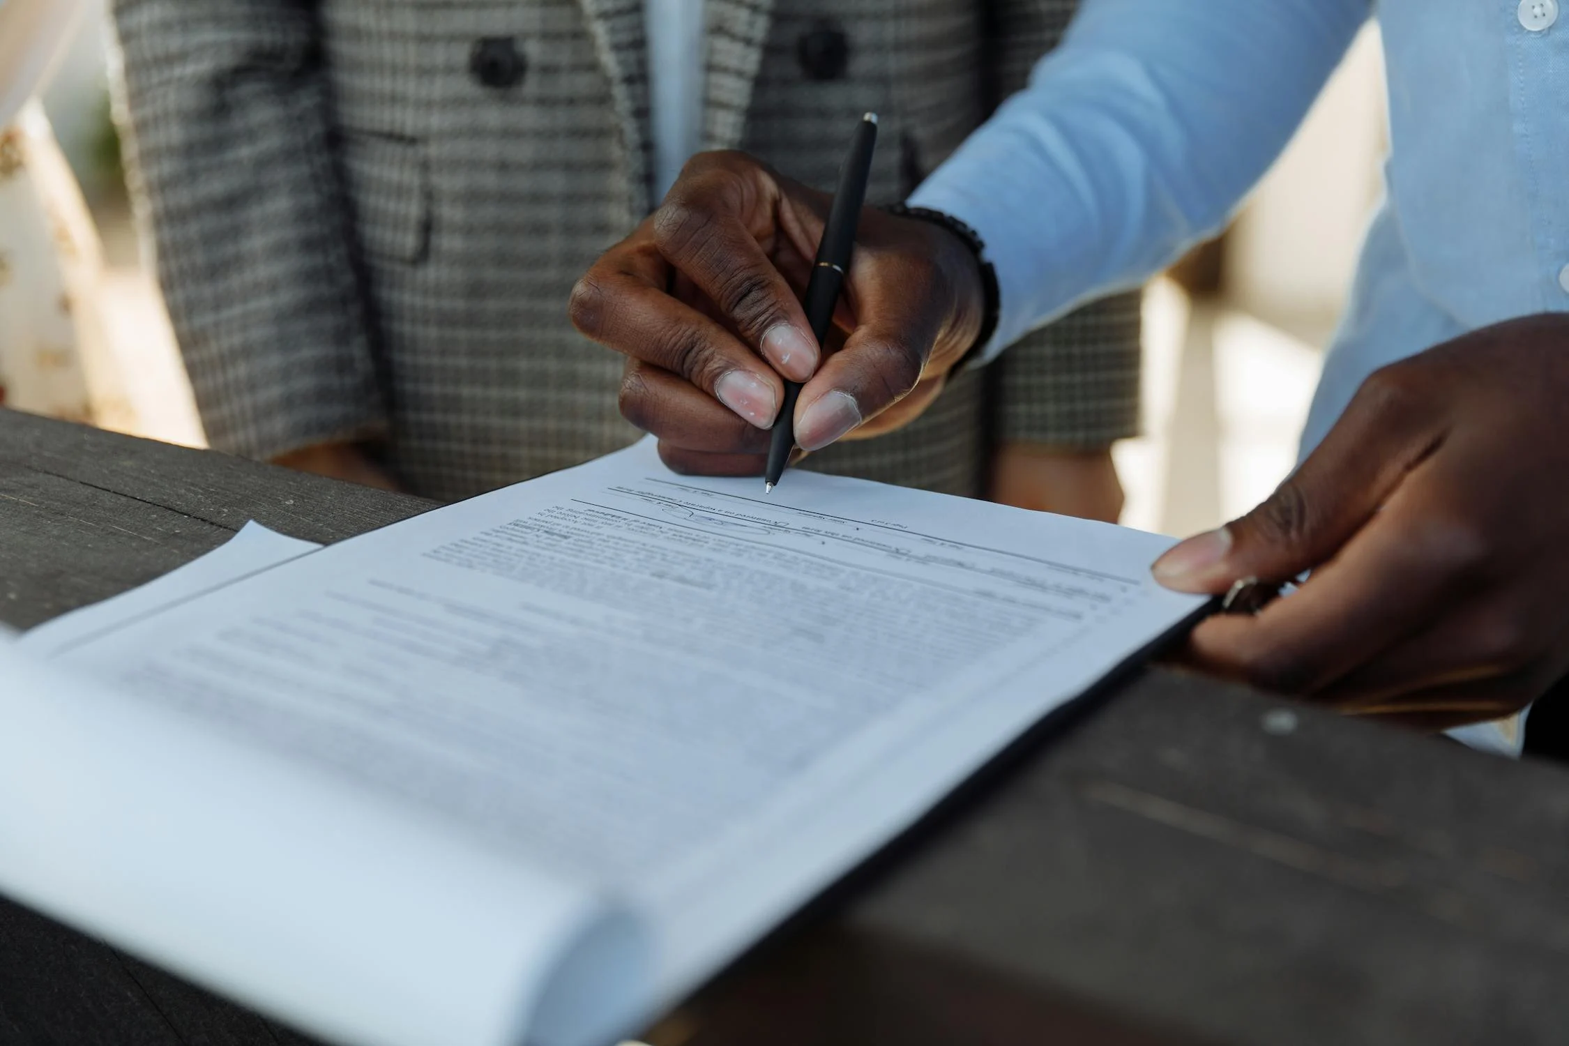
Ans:
[[[6,895],[342,1043],[515,1046],[543,1008],[579,1035],[530,1041],[596,1046],[639,1016],[612,1007],[639,932],[592,892],[9,641],[0,681]],[[552,983],[574,953],[587,1013]]]

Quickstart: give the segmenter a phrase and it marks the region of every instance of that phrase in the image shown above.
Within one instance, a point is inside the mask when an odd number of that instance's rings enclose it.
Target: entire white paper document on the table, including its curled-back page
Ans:
[[[275,547],[0,651],[0,886],[342,1041],[610,1041],[1196,613],[1167,544],[645,442]]]

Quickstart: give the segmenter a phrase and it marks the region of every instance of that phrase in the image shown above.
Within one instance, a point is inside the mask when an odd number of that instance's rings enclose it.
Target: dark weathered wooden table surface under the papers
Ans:
[[[334,541],[428,507],[0,411],[0,619],[113,596],[248,519]],[[1561,1044],[1566,828],[1555,765],[1152,670],[1021,745],[650,1037]],[[0,902],[0,1043],[298,1041]]]

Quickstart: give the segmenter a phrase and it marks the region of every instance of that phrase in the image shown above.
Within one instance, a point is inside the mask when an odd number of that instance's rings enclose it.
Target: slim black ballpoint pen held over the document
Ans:
[[[806,323],[811,334],[822,348],[828,340],[828,325],[833,323],[833,307],[839,303],[839,289],[844,287],[844,273],[850,268],[850,254],[855,251],[855,232],[861,221],[861,205],[866,202],[866,182],[872,173],[872,151],[877,147],[877,113],[866,113],[855,127],[855,138],[850,141],[850,154],[844,158],[839,171],[839,191],[833,194],[833,207],[828,210],[828,224],[822,229],[822,243],[817,245],[817,262],[811,267],[811,279],[806,281],[806,298],[802,307],[806,311]],[[769,444],[769,467],[763,477],[763,492],[770,494],[784,475],[789,455],[795,449],[795,400],[800,397],[800,386],[794,381],[784,383],[784,406],[778,420],[774,422],[774,441]]]

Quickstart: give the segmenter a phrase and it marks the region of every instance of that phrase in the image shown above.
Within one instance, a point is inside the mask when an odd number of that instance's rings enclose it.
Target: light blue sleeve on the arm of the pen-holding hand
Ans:
[[[984,358],[1219,232],[1371,0],[1084,0],[1029,86],[910,198],[987,245]]]

